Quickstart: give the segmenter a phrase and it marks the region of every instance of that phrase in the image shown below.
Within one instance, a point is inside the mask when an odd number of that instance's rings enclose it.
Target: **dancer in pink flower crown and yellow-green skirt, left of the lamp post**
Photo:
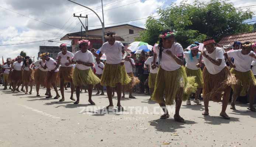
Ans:
[[[100,83],[100,79],[93,73],[91,67],[93,67],[94,59],[93,54],[88,50],[90,46],[89,40],[78,41],[80,51],[77,51],[72,59],[73,62],[76,62],[76,67],[73,74],[73,84],[76,87],[76,102],[74,104],[79,104],[80,100],[80,88],[83,86],[88,87],[88,94],[90,104],[95,105],[91,99],[93,86]]]

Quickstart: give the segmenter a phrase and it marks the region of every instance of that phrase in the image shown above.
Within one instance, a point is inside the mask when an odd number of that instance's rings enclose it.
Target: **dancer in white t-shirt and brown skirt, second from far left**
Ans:
[[[22,81],[23,62],[22,62],[21,56],[17,56],[17,61],[15,61],[11,65],[11,68],[14,69],[11,73],[11,82],[13,83],[13,92],[19,92],[18,88],[16,89],[16,86],[20,85]]]

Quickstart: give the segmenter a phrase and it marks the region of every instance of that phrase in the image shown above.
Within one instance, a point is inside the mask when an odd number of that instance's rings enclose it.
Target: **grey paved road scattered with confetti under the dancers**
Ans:
[[[181,124],[173,114],[160,120],[158,104],[149,96],[123,99],[125,111],[118,112],[103,109],[106,96],[93,95],[97,105],[91,106],[87,93],[78,105],[69,100],[69,90],[65,95],[66,102],[58,102],[35,97],[35,89],[24,95],[1,87],[0,147],[256,147],[256,113],[246,104],[228,109],[231,120],[224,120],[218,116],[221,103],[210,102],[210,116],[204,117],[203,106],[183,102],[180,114],[187,123]]]

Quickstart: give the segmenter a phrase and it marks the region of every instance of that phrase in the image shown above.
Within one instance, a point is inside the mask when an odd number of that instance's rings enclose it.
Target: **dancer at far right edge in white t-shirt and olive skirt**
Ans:
[[[235,103],[238,96],[246,96],[249,93],[250,106],[249,110],[256,111],[253,107],[256,79],[250,69],[252,61],[256,61],[256,56],[252,49],[250,42],[243,43],[242,49],[226,52],[224,55],[226,58],[234,58],[234,67],[231,69],[231,73],[235,75],[238,84],[233,85],[233,97],[230,109],[235,110]]]

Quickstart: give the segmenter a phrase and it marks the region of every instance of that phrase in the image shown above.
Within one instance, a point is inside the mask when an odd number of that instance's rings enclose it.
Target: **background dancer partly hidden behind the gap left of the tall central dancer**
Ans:
[[[100,58],[96,58],[96,64],[94,65],[94,68],[96,70],[96,75],[98,78],[101,79],[101,76],[103,74],[103,70],[104,70],[104,64],[102,62],[100,62]],[[104,91],[103,91],[103,86],[99,84],[96,85],[97,87],[97,93],[96,95],[99,95],[100,94],[100,90],[101,90],[101,94],[100,95],[104,95]]]

